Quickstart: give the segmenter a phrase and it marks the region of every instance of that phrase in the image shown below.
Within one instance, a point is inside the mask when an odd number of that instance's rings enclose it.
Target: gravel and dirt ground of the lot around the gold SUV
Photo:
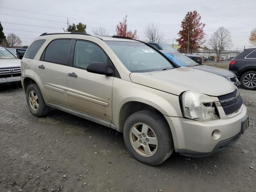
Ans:
[[[32,116],[20,86],[0,88],[0,192],[256,192],[256,91],[241,94],[250,127],[232,147],[147,166],[122,134],[58,110]]]

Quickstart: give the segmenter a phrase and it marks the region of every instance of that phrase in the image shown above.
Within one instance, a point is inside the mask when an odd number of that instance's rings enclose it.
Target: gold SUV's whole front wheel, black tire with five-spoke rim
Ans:
[[[148,127],[146,135],[141,134],[144,125]],[[132,155],[140,162],[148,165],[161,164],[174,151],[172,133],[168,123],[162,115],[151,110],[142,110],[130,115],[124,123],[123,135],[126,147]],[[154,137],[157,140],[152,140]],[[157,143],[157,145],[152,143]]]

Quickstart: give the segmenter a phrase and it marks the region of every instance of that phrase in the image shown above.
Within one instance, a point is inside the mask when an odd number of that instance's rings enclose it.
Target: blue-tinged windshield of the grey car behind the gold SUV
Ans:
[[[172,52],[164,52],[163,53],[170,58],[170,60],[176,63],[179,66],[196,66],[198,63],[194,62],[192,59],[188,58],[182,53],[172,53]]]

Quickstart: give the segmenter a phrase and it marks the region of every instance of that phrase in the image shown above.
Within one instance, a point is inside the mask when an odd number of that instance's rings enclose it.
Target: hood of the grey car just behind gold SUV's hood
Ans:
[[[196,66],[190,66],[190,68],[206,71],[209,73],[213,73],[222,77],[234,77],[236,76],[233,72],[225,69],[221,69],[218,67],[212,67],[208,65],[196,65]]]

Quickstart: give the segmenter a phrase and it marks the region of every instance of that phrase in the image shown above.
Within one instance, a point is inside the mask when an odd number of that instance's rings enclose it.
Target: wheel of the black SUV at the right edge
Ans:
[[[249,82],[250,80],[252,81]],[[256,71],[248,71],[244,73],[240,78],[240,83],[241,83],[241,86],[245,89],[255,90],[256,89]]]

